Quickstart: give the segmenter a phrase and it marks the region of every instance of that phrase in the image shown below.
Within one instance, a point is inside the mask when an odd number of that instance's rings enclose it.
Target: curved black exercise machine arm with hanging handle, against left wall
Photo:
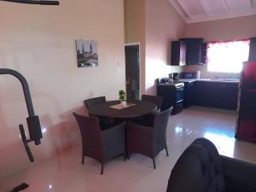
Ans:
[[[34,113],[32,98],[30,95],[27,81],[20,73],[16,72],[15,70],[12,70],[12,69],[0,68],[0,75],[1,74],[13,75],[13,76],[15,76],[15,78],[19,79],[20,83],[22,84],[22,90],[23,90],[25,100],[26,100],[26,108],[27,108],[27,112],[29,115],[28,118],[26,118],[26,123],[27,123],[28,131],[29,131],[29,135],[30,135],[29,140],[26,139],[23,125],[19,125],[19,127],[20,127],[20,134],[22,137],[22,141],[26,148],[26,153],[28,154],[29,159],[33,162],[34,158],[32,156],[32,152],[27,143],[34,142],[36,145],[39,145],[39,144],[41,144],[40,140],[43,136],[42,136],[39,117],[37,115],[35,115],[35,113]]]

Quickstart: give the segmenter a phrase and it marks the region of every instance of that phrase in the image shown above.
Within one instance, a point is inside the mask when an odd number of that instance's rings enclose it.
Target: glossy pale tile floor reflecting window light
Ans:
[[[109,161],[104,175],[100,175],[100,164],[85,158],[81,165],[81,148],[73,148],[64,154],[32,166],[15,176],[0,181],[0,191],[22,182],[30,184],[24,192],[150,192],[166,191],[167,180],[183,150],[195,138],[207,137],[218,148],[220,154],[256,163],[256,144],[238,142],[234,138],[236,112],[192,107],[171,116],[167,129],[170,156],[162,151],[156,158],[156,170],[152,160],[140,154]]]

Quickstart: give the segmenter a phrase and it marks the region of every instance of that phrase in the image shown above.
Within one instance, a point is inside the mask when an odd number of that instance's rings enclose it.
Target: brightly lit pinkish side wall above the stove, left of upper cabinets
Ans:
[[[171,67],[171,42],[185,35],[185,22],[168,0],[146,1],[146,93],[156,94],[155,79],[180,72]]]

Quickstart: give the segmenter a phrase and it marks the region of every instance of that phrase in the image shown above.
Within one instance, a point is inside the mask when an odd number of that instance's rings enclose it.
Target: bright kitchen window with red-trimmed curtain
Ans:
[[[212,42],[207,46],[209,72],[240,73],[242,62],[248,61],[250,40]]]

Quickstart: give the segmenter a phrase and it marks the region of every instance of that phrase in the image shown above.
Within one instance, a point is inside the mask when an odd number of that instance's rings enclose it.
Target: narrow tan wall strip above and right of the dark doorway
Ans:
[[[140,44],[140,92],[145,92],[145,0],[124,0],[125,43]]]

